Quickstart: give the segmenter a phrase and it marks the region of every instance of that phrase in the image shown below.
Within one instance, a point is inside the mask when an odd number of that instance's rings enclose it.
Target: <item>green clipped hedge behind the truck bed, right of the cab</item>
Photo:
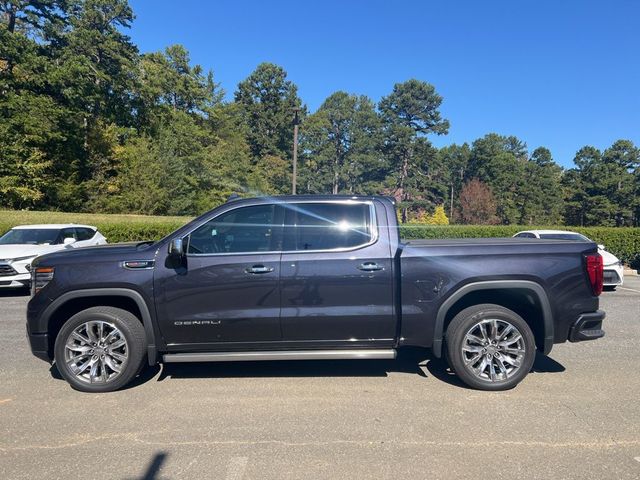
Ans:
[[[481,238],[511,237],[522,230],[571,230],[582,233],[596,243],[605,246],[623,263],[640,268],[640,228],[615,227],[558,227],[519,225],[403,225],[400,235],[406,239],[416,238]]]

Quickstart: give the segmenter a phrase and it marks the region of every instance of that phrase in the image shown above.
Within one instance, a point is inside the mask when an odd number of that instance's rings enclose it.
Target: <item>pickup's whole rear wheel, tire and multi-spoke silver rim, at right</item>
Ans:
[[[458,313],[447,328],[447,359],[458,377],[479,390],[508,390],[527,376],[536,355],[531,328],[520,315],[484,304]]]

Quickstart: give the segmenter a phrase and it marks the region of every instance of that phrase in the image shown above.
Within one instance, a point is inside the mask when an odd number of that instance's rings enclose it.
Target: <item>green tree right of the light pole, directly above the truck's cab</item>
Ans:
[[[336,92],[303,125],[302,185],[310,193],[368,193],[383,180],[380,120],[367,97]]]

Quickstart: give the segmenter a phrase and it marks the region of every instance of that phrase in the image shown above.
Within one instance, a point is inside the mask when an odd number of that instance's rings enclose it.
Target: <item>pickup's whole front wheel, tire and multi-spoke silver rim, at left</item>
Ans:
[[[111,392],[129,383],[144,362],[140,320],[115,307],[92,307],[71,317],[55,344],[58,371],[76,390]]]

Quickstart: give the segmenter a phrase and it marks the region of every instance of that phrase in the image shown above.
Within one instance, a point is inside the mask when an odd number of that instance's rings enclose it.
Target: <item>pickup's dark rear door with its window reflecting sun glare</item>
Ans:
[[[393,262],[373,201],[284,205],[283,340],[301,346],[392,345]]]

